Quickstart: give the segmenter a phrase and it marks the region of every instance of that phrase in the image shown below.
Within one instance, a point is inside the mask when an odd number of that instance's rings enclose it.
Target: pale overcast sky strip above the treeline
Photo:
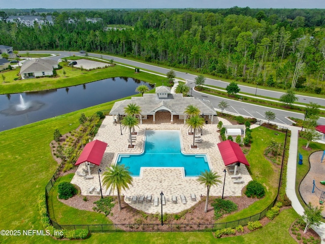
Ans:
[[[286,8],[324,9],[325,0],[2,0],[2,9]]]

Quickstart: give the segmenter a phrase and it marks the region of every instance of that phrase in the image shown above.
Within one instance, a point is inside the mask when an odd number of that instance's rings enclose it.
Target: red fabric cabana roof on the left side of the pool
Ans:
[[[75,165],[82,164],[84,162],[100,165],[106,146],[107,143],[100,140],[94,140],[87,143]]]

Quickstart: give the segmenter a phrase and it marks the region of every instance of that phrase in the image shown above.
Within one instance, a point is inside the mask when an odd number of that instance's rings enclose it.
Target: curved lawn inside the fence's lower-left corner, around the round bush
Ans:
[[[59,177],[55,182],[54,187],[51,189],[48,200],[48,211],[51,219],[60,225],[70,225],[72,222],[76,225],[112,224],[112,222],[103,214],[72,208],[61,203],[57,199],[58,184],[63,181],[70,182],[73,176],[74,174],[68,174]]]

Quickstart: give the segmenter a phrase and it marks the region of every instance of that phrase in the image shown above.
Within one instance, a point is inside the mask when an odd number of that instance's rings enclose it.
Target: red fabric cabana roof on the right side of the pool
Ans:
[[[240,149],[240,146],[237,143],[230,140],[226,140],[218,143],[217,145],[225,166],[237,162],[249,166],[245,155],[243,154],[242,150]]]

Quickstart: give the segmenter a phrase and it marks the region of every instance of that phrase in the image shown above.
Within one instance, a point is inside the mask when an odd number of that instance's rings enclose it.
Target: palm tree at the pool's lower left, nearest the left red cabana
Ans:
[[[121,190],[129,189],[129,185],[132,186],[133,178],[124,164],[112,165],[111,168],[107,167],[106,169],[107,171],[104,172],[103,186],[106,186],[106,190],[109,187],[112,187],[113,191],[115,189],[117,190],[118,210],[121,210]]]

